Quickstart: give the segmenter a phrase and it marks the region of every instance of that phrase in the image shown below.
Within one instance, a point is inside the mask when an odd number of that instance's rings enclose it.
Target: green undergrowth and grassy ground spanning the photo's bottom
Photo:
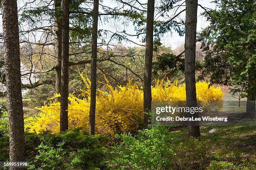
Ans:
[[[25,133],[26,161],[31,170],[256,169],[256,127],[215,127],[210,134],[212,128],[200,127],[199,139],[188,138],[186,127],[161,126],[115,137],[90,135],[81,128]],[[0,161],[9,160],[8,121],[3,120],[0,153]]]

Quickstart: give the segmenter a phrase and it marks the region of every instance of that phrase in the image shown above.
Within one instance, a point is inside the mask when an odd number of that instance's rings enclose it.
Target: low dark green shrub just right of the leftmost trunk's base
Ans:
[[[90,169],[100,167],[105,156],[107,138],[102,135],[81,133],[80,129],[59,134],[42,134],[33,168]],[[52,169],[50,168],[50,169]]]

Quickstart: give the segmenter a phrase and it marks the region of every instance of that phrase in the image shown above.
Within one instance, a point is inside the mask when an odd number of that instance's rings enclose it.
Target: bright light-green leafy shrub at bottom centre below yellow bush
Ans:
[[[122,170],[169,170],[174,152],[170,149],[170,138],[166,127],[152,126],[133,137],[131,134],[120,134],[121,140],[113,147],[116,155],[117,169]]]

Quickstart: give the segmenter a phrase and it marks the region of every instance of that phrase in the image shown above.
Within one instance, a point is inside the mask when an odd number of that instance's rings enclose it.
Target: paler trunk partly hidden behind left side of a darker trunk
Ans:
[[[54,48],[56,51],[56,79],[55,79],[55,93],[58,94],[61,91],[61,53],[62,53],[62,29],[61,29],[61,14],[58,9],[61,7],[61,0],[54,0],[55,8],[55,36]],[[56,99],[59,101],[59,99]]]

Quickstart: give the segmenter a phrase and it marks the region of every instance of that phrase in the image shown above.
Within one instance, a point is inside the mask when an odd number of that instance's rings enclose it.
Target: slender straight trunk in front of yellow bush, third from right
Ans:
[[[90,134],[95,134],[96,83],[97,83],[97,31],[98,31],[99,0],[93,1],[92,15],[92,63],[91,63],[91,101],[90,101]]]

